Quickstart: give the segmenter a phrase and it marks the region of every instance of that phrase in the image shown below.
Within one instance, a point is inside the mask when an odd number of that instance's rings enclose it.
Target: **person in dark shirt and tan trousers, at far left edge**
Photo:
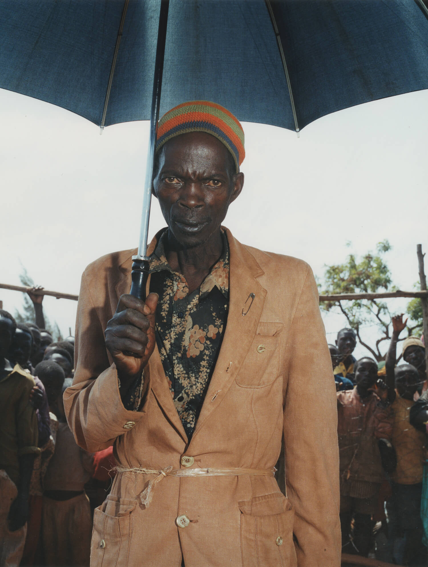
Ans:
[[[29,483],[37,447],[37,417],[30,403],[31,375],[6,354],[15,319],[0,310],[0,565],[19,565],[28,519]]]

